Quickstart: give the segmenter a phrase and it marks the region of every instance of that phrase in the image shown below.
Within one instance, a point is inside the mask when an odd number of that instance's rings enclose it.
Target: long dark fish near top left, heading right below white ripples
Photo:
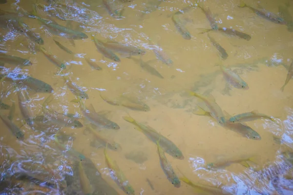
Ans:
[[[87,39],[87,35],[84,34],[83,32],[71,30],[69,28],[66,28],[65,26],[62,26],[60,24],[57,24],[56,22],[53,22],[51,20],[45,20],[42,19],[41,17],[38,16],[37,10],[36,10],[36,5],[33,5],[33,12],[31,15],[42,22],[45,26],[47,26],[49,29],[53,30],[54,32],[57,32],[57,34],[62,35],[62,33],[67,35],[67,38],[70,39]]]

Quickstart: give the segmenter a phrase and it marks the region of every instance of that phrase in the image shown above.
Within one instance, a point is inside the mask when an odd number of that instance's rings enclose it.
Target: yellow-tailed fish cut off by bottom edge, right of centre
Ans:
[[[189,186],[191,186],[192,188],[194,188],[196,194],[199,194],[199,195],[224,195],[222,189],[220,189],[218,187],[214,187],[214,186],[201,184],[201,183],[193,183],[180,170],[179,170],[179,172],[182,174],[182,177],[179,177],[179,179],[181,181],[183,181],[184,183],[188,184]]]

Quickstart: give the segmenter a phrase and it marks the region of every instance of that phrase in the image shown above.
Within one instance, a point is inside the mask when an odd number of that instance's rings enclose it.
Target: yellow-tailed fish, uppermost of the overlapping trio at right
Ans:
[[[226,119],[225,116],[223,114],[222,109],[220,108],[220,106],[216,103],[214,97],[212,95],[209,96],[204,96],[195,92],[189,92],[189,94],[191,96],[195,96],[199,99],[201,99],[205,106],[207,106],[207,108],[209,109],[208,112],[210,113],[210,116],[213,117],[214,119],[216,119],[216,121],[219,124],[225,124],[226,123]],[[205,110],[207,111],[207,110]]]

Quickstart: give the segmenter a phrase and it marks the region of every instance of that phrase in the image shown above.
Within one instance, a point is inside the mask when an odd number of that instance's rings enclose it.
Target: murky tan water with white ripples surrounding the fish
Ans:
[[[54,35],[44,23],[26,17],[23,13],[32,12],[31,4],[35,1],[8,0],[0,6],[5,11],[18,10],[15,20],[3,22],[4,26],[0,30],[1,52],[32,62],[31,66],[5,63],[2,74],[10,73],[9,78],[15,76],[11,73],[28,75],[48,83],[54,90],[49,98],[51,101],[46,104],[47,108],[54,110],[49,117],[49,121],[53,122],[45,123],[47,120],[41,120],[38,124],[35,122],[35,126],[27,125],[23,123],[25,118],[20,111],[17,89],[9,79],[2,81],[2,102],[10,106],[15,103],[12,121],[24,133],[23,140],[17,139],[2,124],[2,193],[84,194],[80,182],[83,177],[79,173],[79,163],[82,160],[82,170],[90,183],[90,193],[124,194],[111,178],[105,163],[103,141],[100,145],[96,142],[91,144],[95,140],[94,134],[84,131],[89,122],[82,114],[79,104],[71,102],[78,93],[74,95],[70,89],[72,90],[72,86],[80,86],[80,91],[84,90],[89,97],[82,99],[85,107],[90,112],[93,112],[93,107],[102,118],[100,121],[107,118],[119,125],[119,129],[111,129],[112,126],[93,128],[108,142],[120,145],[121,148],[117,151],[108,147],[107,154],[117,162],[135,194],[192,195],[199,191],[194,191],[183,181],[180,188],[175,188],[168,181],[160,166],[156,145],[139,132],[137,127],[123,119],[127,116],[152,127],[182,151],[184,159],[176,159],[166,153],[178,177],[182,177],[183,173],[193,183],[216,187],[223,194],[291,194],[292,165],[286,159],[292,158],[282,155],[282,152],[290,152],[293,148],[293,82],[289,81],[284,92],[280,90],[292,62],[293,34],[289,31],[290,25],[287,28],[286,25],[257,16],[249,8],[240,8],[237,0],[200,2],[201,6],[209,7],[219,28],[233,28],[251,36],[250,40],[245,40],[227,37],[217,31],[209,32],[209,36],[226,50],[228,58],[223,60],[207,33],[199,34],[202,28],[210,28],[209,20],[200,8],[185,9],[184,14],[178,15],[180,25],[186,27],[191,39],[184,39],[175,28],[171,20],[172,14],[190,6],[192,2],[116,0],[115,8],[111,8],[114,17],[109,15],[102,1],[57,1],[66,6],[54,2],[39,1],[48,10],[46,12],[43,11],[44,8],[38,7],[39,16],[83,32],[87,39],[72,41],[72,36],[66,38]],[[246,3],[257,7],[256,2]],[[275,14],[278,14],[278,6],[289,6],[287,0],[259,1],[259,4]],[[293,15],[292,2],[289,1],[289,4],[289,13]],[[110,2],[110,6],[112,5],[113,2]],[[57,13],[63,20],[54,17]],[[42,37],[42,47],[63,62],[65,70],[60,72],[60,68],[42,54],[38,43],[23,35],[18,23],[14,22],[20,18],[28,25],[27,29]],[[1,19],[1,25],[2,21]],[[154,70],[140,64],[140,56],[132,56],[131,58],[138,59],[133,60],[118,54],[121,62],[103,57],[97,51],[91,35],[101,40],[112,39],[131,44],[146,51],[146,54],[140,55],[141,59],[148,62],[162,77],[154,72],[149,73],[148,71]],[[63,51],[53,38],[74,54]],[[164,63],[156,58],[154,51],[161,52],[161,49],[172,63],[167,60],[166,64],[166,60]],[[85,58],[95,60],[102,70],[91,68]],[[220,63],[235,71],[247,82],[249,89],[227,88],[220,67],[216,66]],[[74,84],[70,85],[68,79],[63,79],[64,74]],[[27,85],[24,81],[22,84]],[[212,117],[192,114],[200,102],[198,98],[189,96],[187,90],[212,94],[224,113],[236,115],[257,110],[275,117],[276,122],[269,119],[246,122],[261,136],[261,140],[248,139],[225,129]],[[25,105],[32,112],[31,115],[44,115],[43,102],[49,97],[50,90],[47,93],[30,89],[24,92],[27,92],[26,98],[29,101]],[[101,96],[116,105],[108,104]],[[148,107],[144,106],[145,111],[129,109],[137,102],[141,105],[145,103]],[[67,113],[81,116],[79,121],[83,127],[72,128],[72,123],[67,123],[67,120],[73,121],[72,118],[66,118],[65,124],[64,121],[62,124],[56,122],[54,116],[57,113],[61,117]],[[9,111],[1,110],[1,115],[7,117]],[[58,143],[54,137],[57,133]],[[255,159],[249,162],[250,168],[239,163],[216,170],[206,167],[211,162],[249,157]]]

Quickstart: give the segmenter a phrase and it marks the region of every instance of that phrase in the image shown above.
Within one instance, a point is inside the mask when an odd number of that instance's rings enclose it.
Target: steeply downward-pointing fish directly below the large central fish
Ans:
[[[161,167],[165,175],[167,176],[167,179],[173,184],[174,187],[179,188],[181,185],[180,180],[178,176],[176,175],[176,173],[174,172],[172,165],[166,158],[164,150],[160,146],[160,137],[159,137],[159,140],[157,140],[157,147],[158,147]]]

